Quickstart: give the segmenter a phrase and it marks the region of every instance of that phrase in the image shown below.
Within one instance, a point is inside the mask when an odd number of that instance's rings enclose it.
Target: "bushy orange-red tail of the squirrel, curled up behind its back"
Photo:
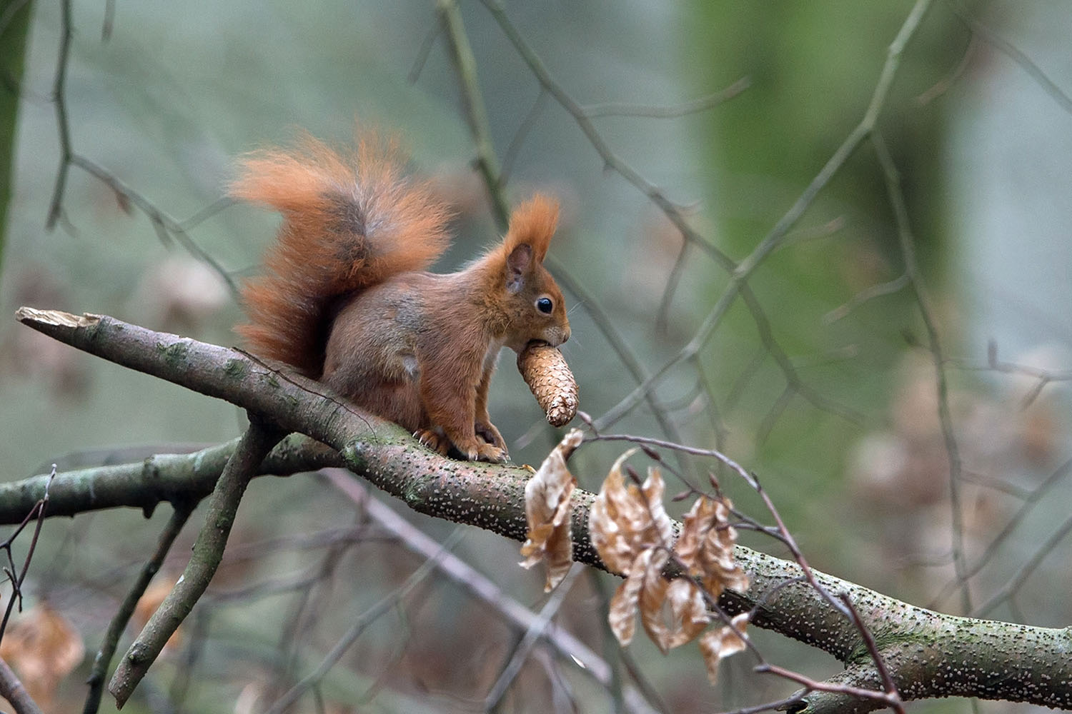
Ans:
[[[252,352],[318,377],[336,299],[423,270],[446,249],[449,211],[403,163],[376,136],[347,153],[304,137],[243,157],[230,195],[283,214],[265,274],[242,286],[250,323],[238,332]]]

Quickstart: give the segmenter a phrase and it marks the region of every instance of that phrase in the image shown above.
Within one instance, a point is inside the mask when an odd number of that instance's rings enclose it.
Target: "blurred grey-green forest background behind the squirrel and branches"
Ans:
[[[913,2],[508,2],[501,19],[493,0],[5,0],[0,315],[24,304],[100,313],[235,344],[241,309],[221,274],[257,271],[277,216],[221,202],[234,157],[299,130],[345,141],[355,119],[400,132],[415,167],[435,177],[458,212],[458,239],[436,269],[462,264],[497,229],[473,168],[473,88],[460,86],[441,29],[447,6],[472,46],[505,195],[540,188],[563,201],[551,253],[572,306],[564,352],[581,409],[607,431],[725,451],[758,474],[810,563],[833,575],[947,612],[1072,619],[1072,5],[1060,0],[934,2],[888,65],[896,73],[875,124],[888,155],[864,139],[825,183],[816,179],[865,118]],[[538,58],[542,86],[516,40]],[[74,163],[47,229],[64,131]],[[899,172],[892,199],[884,159]],[[689,243],[683,254],[664,199],[713,248]],[[898,232],[900,199],[910,234]],[[806,210],[783,236],[794,206]],[[764,238],[774,249],[754,252]],[[720,256],[747,259],[750,297],[712,324],[736,288]],[[690,340],[698,349],[682,359]],[[4,480],[53,461],[218,443],[243,425],[227,404],[13,319],[0,323],[0,364]],[[653,400],[616,409],[638,374],[664,367]],[[491,398],[513,460],[538,464],[561,435],[512,355]],[[580,485],[596,489],[622,449],[579,452]],[[762,516],[744,484],[725,474],[723,485]],[[456,530],[396,510],[436,540]],[[45,523],[26,608],[62,613],[89,653],[49,687],[50,711],[80,709],[92,652],[165,511]],[[161,581],[184,563],[195,530]],[[209,595],[124,711],[264,711],[419,567],[398,537],[323,477],[255,481]],[[539,610],[542,576],[517,567],[517,544],[475,529],[460,537],[456,555]],[[785,555],[755,533],[742,542]],[[966,587],[955,559],[971,575]],[[557,620],[617,662],[604,627],[614,579],[584,573],[570,587]],[[839,667],[751,632],[772,660],[808,675]],[[522,634],[433,573],[295,711],[479,711]],[[638,641],[627,664],[667,712],[732,710],[795,688],[751,674],[745,656],[712,687],[691,648],[662,657]],[[572,664],[537,653],[498,711],[601,712],[615,701]]]

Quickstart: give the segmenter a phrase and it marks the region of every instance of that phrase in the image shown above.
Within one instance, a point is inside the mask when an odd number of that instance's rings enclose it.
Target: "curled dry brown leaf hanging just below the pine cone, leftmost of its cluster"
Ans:
[[[525,520],[527,540],[521,546],[525,561],[522,567],[546,563],[549,592],[566,577],[574,557],[574,536],[570,529],[572,502],[570,497],[577,480],[566,468],[566,459],[581,444],[583,435],[572,429],[555,446],[539,470],[525,484]]]

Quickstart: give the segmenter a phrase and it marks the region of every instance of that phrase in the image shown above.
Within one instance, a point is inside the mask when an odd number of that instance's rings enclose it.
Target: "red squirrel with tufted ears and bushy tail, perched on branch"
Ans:
[[[447,248],[450,211],[408,177],[397,141],[343,153],[312,137],[248,154],[235,198],[283,215],[266,272],[244,282],[250,351],[285,362],[446,455],[502,462],[488,414],[498,351],[569,339],[544,267],[559,206],[536,195],[502,243],[456,273],[426,272]]]

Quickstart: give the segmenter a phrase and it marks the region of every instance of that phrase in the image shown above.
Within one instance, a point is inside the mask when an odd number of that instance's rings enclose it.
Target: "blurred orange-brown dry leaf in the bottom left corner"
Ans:
[[[0,658],[8,662],[42,707],[47,708],[60,681],[81,663],[81,636],[47,603],[39,603],[8,625]]]

